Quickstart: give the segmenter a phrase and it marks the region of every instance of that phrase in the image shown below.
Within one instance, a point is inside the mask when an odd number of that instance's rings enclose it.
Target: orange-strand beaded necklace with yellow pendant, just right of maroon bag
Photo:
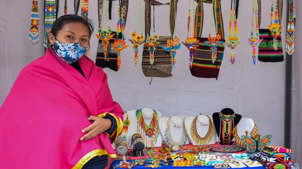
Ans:
[[[231,12],[230,12],[230,23],[229,23],[229,38],[227,38],[227,41],[224,43],[227,47],[231,48],[231,64],[233,65],[235,62],[235,48],[239,46],[241,43],[239,42],[238,37],[238,25],[237,25],[237,16],[236,16],[236,10],[233,9],[233,0],[231,0]],[[238,5],[238,4],[237,4]],[[235,0],[234,0],[234,6]],[[233,29],[233,35],[232,33],[232,22],[234,20],[234,29]]]

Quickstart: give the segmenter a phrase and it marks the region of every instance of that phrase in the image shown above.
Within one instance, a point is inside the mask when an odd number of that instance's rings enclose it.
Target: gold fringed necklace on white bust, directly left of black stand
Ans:
[[[200,114],[200,115],[204,115],[204,114]],[[197,123],[197,117],[196,116],[191,124],[191,137],[192,139],[198,144],[198,145],[204,145],[209,143],[212,140],[212,137],[214,135],[214,127],[213,127],[213,123],[210,119],[210,117],[208,115],[206,115],[209,118],[209,129],[207,131],[207,134],[204,137],[201,137],[198,132],[197,132],[197,128],[196,128],[196,123]]]

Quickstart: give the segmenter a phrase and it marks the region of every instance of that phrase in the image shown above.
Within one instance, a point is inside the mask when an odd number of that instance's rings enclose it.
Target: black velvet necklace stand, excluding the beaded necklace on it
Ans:
[[[221,114],[223,115],[233,115],[234,114],[234,111],[233,109],[230,109],[230,108],[224,108],[221,110]],[[239,114],[235,114],[235,118],[234,118],[234,127],[239,123],[240,119],[242,118],[241,115]],[[216,132],[218,134],[218,137],[220,138],[219,140],[219,144],[220,145],[233,145],[233,141],[230,142],[230,144],[224,144],[223,143],[223,140],[222,140],[222,126],[220,126],[220,117],[219,117],[219,112],[216,112],[216,113],[213,113],[213,122],[214,122],[214,126],[215,126],[215,129],[216,129]],[[233,134],[231,134],[231,140],[233,139]]]

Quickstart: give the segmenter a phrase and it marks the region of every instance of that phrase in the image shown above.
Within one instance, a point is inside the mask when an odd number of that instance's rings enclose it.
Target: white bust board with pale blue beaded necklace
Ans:
[[[189,138],[184,125],[184,115],[173,115],[162,117],[158,121],[159,131],[162,140],[166,145],[183,146],[189,143]]]

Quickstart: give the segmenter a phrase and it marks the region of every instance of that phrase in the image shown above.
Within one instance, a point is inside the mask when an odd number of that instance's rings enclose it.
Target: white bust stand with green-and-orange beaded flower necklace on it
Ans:
[[[157,120],[155,121],[156,117],[153,117],[154,114],[157,114]],[[143,140],[145,142],[146,147],[161,147],[162,146],[162,136],[159,132],[158,127],[158,120],[162,117],[161,113],[157,110],[155,112],[153,109],[150,108],[143,108],[140,110],[137,110],[135,112],[136,116],[136,133],[141,134],[143,137]],[[138,119],[140,118],[140,119]],[[152,125],[151,125],[152,123]],[[147,125],[147,130],[144,130],[144,124]],[[154,126],[153,126],[154,125]],[[156,138],[156,134],[158,135]],[[152,145],[153,143],[153,145]]]

